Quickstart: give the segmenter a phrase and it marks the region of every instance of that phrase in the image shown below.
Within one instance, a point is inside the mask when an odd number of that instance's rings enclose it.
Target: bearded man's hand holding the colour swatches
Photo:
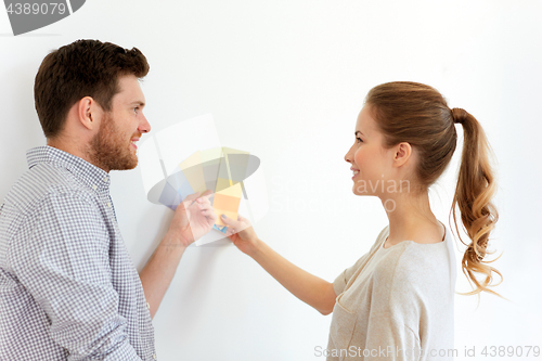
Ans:
[[[215,209],[209,202],[211,194],[210,190],[205,191],[202,195],[196,192],[186,196],[179,204],[169,224],[168,234],[171,240],[188,247],[210,231],[217,220]]]

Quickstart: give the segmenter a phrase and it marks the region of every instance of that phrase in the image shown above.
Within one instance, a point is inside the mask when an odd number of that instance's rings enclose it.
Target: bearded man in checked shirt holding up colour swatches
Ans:
[[[0,205],[0,360],[154,360],[151,319],[184,249],[217,216],[210,191],[177,208],[138,274],[109,197],[132,169],[145,99],[145,56],[98,40],[48,54],[35,101],[46,146]]]

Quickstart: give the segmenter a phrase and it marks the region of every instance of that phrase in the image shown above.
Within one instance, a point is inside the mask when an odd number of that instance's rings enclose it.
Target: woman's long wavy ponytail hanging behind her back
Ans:
[[[461,242],[467,246],[462,260],[463,273],[475,284],[476,289],[464,295],[476,295],[483,292],[500,296],[489,287],[492,284],[492,272],[502,274],[495,268],[488,266],[494,260],[483,260],[488,253],[489,234],[495,227],[499,212],[491,203],[495,193],[495,181],[489,163],[489,144],[480,124],[474,116],[462,108],[452,109],[454,123],[463,125],[463,154],[461,157],[457,185],[453,197],[452,209],[455,230]],[[461,212],[461,220],[470,238],[469,244],[463,242],[456,220],[456,208]],[[485,276],[479,281],[475,273]]]

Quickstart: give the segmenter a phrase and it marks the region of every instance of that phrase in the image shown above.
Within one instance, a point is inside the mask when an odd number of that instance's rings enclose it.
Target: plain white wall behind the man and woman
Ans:
[[[153,130],[212,113],[222,145],[264,167],[271,208],[258,235],[332,281],[387,222],[377,199],[352,195],[344,160],[363,98],[384,81],[426,82],[479,119],[498,158],[493,265],[509,301],[482,295],[477,308],[456,296],[455,348],[542,347],[541,13],[538,1],[92,0],[13,37],[0,11],[0,198],[25,151],[44,144],[33,99],[43,56],[79,38],[138,47],[151,64]],[[443,222],[459,157],[431,191]],[[139,169],[114,172],[112,196],[141,269],[171,212],[146,201]],[[160,360],[312,360],[323,359],[314,347],[326,346],[330,322],[219,242],[186,250],[154,326]]]

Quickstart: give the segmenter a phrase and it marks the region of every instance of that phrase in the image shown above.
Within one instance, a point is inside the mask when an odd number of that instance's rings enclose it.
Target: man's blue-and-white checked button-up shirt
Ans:
[[[51,146],[0,205],[0,360],[154,360],[109,176]]]

